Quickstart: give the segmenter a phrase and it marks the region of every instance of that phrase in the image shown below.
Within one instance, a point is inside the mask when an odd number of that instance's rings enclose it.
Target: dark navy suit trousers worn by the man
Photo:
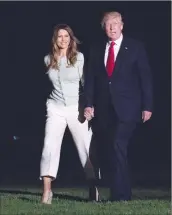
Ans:
[[[108,119],[95,125],[96,150],[101,172],[107,176],[112,200],[130,200],[131,186],[127,164],[127,147],[135,122],[121,122],[110,104]]]

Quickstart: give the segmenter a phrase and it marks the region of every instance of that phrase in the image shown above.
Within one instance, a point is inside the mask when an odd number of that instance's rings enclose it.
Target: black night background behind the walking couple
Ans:
[[[152,119],[138,127],[129,147],[134,185],[170,184],[171,2],[1,2],[1,185],[39,184],[44,136],[46,80],[43,63],[53,27],[66,23],[82,42],[101,38],[104,11],[124,17],[124,34],[145,43],[154,80]],[[14,141],[13,135],[20,137]],[[67,131],[59,180],[83,181],[82,168]]]

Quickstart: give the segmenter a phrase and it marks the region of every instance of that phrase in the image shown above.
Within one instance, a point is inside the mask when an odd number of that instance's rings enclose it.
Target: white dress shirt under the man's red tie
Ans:
[[[118,52],[119,52],[119,49],[120,49],[120,46],[121,46],[121,43],[122,43],[122,40],[123,40],[123,35],[121,34],[121,36],[115,40],[115,45],[114,45],[114,54],[115,54],[115,59],[116,60],[116,57],[118,55]],[[109,54],[109,47],[110,47],[110,44],[111,44],[112,41],[109,41],[107,42],[106,44],[106,49],[105,49],[105,56],[104,56],[104,63],[105,63],[105,66],[106,66],[106,62],[107,62],[107,58],[108,58],[108,54]]]

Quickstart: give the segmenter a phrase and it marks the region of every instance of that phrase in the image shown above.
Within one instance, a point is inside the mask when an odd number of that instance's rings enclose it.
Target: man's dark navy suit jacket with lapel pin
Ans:
[[[112,76],[104,65],[106,42],[90,49],[85,72],[86,107],[94,106],[95,119],[105,123],[111,100],[121,121],[140,121],[144,110],[153,109],[152,76],[140,41],[123,37]]]

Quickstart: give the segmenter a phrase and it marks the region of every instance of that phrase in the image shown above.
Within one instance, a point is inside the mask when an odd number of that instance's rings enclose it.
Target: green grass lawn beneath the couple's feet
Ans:
[[[133,189],[130,202],[108,202],[108,189],[101,188],[101,203],[88,202],[86,188],[54,189],[52,205],[42,205],[41,189],[0,188],[3,215],[167,215],[170,190]]]

